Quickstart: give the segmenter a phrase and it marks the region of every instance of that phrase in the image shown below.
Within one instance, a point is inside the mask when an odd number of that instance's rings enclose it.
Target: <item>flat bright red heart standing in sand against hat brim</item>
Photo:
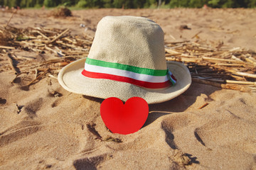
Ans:
[[[125,103],[111,97],[102,102],[100,115],[111,132],[127,135],[142,128],[149,115],[149,106],[139,97],[129,98]]]

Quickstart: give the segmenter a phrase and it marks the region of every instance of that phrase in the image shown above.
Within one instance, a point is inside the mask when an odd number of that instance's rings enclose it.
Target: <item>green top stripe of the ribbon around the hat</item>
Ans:
[[[90,59],[90,58],[87,58],[85,63],[90,64],[90,65],[97,65],[100,67],[122,69],[122,70],[127,70],[129,72],[134,72],[134,73],[138,73],[138,74],[147,74],[147,75],[151,75],[151,76],[166,76],[166,74],[167,74],[167,69],[146,69],[146,68],[134,67],[134,66],[126,65],[126,64],[119,64],[119,63],[114,63],[114,62],[104,62],[104,61]]]

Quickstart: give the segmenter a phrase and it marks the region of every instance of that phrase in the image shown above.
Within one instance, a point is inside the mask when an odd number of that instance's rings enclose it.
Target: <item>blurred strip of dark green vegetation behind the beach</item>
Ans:
[[[255,8],[256,0],[0,0],[1,8]]]

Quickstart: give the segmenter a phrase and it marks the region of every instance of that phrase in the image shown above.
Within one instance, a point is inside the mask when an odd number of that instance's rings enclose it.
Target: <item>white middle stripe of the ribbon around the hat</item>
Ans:
[[[137,79],[140,81],[147,81],[151,83],[163,83],[165,81],[169,81],[167,75],[151,76],[147,74],[138,74],[134,72],[129,72],[127,70],[101,67],[101,66],[91,65],[87,63],[85,63],[85,70],[87,72],[97,72],[97,73],[104,73],[104,74],[112,74],[112,75],[121,76],[121,77],[129,77],[131,79]]]

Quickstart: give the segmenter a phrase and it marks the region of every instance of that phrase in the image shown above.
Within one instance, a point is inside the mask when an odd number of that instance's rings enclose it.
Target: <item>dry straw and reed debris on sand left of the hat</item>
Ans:
[[[0,26],[0,55],[6,58],[1,72],[12,70],[17,79],[26,80],[21,86],[31,86],[45,77],[57,77],[62,67],[87,57],[92,38],[87,35],[70,35],[70,30],[57,28],[15,28]],[[36,57],[15,55],[16,51],[34,52],[40,57],[55,56],[54,60],[33,60]],[[3,59],[4,61],[4,59]],[[23,73],[26,73],[24,75]],[[21,75],[23,74],[23,75]],[[35,76],[33,76],[35,75]],[[31,77],[35,77],[34,79]]]

